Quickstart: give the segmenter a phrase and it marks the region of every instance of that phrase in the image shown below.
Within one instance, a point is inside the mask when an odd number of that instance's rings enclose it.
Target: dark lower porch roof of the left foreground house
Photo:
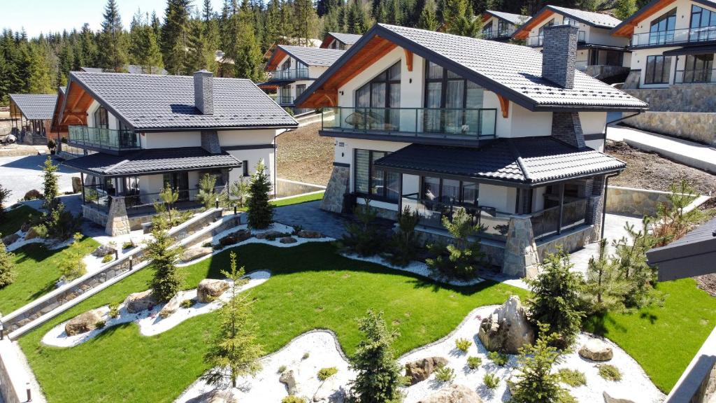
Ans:
[[[94,153],[64,161],[65,166],[101,176],[146,175],[176,170],[238,168],[229,153],[211,154],[200,147],[149,148],[136,153],[115,156]]]

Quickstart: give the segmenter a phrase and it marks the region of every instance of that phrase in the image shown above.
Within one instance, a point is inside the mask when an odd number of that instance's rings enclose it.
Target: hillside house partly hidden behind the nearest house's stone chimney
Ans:
[[[579,29],[577,37],[577,69],[606,82],[624,82],[629,74],[631,53],[629,40],[611,35],[621,20],[600,14],[558,6],[545,6],[525,22],[514,39],[525,40],[527,46],[542,49],[544,29],[553,25],[572,25]]]

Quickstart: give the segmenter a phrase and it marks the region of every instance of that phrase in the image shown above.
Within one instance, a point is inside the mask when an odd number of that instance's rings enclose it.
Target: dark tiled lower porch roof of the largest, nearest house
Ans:
[[[627,164],[592,148],[575,148],[551,136],[498,138],[480,148],[411,144],[375,162],[405,173],[430,172],[537,186],[621,171]]]

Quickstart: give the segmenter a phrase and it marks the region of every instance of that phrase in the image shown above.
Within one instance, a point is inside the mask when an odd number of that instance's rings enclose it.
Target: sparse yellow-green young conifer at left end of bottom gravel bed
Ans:
[[[244,269],[236,270],[236,253],[231,252],[231,272],[221,270],[234,286],[231,300],[219,310],[218,331],[204,356],[204,362],[212,368],[202,378],[211,385],[236,387],[239,376],[255,375],[261,370],[258,359],[263,349],[256,339],[256,323],[251,318],[251,302],[246,296],[238,295]]]

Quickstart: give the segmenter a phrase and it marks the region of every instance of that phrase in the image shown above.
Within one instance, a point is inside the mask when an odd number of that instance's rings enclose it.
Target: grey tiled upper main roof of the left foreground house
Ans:
[[[201,128],[294,128],[298,125],[251,80],[213,78],[213,115],[194,105],[194,78],[178,75],[72,72],[72,91],[84,90],[137,131]],[[67,113],[67,110],[65,110]]]

